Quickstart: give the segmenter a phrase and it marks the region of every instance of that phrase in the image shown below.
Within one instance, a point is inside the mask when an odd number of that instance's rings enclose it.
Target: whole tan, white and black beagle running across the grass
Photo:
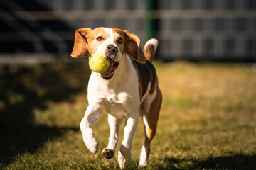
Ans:
[[[107,71],[90,75],[87,89],[89,106],[80,123],[83,141],[92,154],[97,153],[98,142],[92,125],[97,123],[105,109],[109,113],[110,137],[102,155],[112,158],[117,147],[119,126],[125,119],[124,139],[118,152],[121,169],[132,162],[132,138],[139,116],[143,119],[145,132],[139,166],[149,162],[149,145],[156,133],[162,101],[156,69],[151,63],[157,45],[158,41],[153,38],[146,42],[143,52],[137,35],[117,28],[82,28],[75,33],[72,57],[90,57],[101,52],[110,59]]]

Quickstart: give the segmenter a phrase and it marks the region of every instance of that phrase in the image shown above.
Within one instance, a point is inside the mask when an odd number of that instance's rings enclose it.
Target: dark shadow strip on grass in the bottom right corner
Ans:
[[[235,154],[223,157],[210,157],[206,160],[178,159],[167,157],[164,159],[168,169],[256,169],[256,155]]]

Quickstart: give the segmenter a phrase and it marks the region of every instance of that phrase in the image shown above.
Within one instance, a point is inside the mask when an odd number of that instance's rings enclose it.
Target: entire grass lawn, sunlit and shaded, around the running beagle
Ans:
[[[154,63],[164,101],[142,169],[256,169],[256,72],[251,64]],[[107,113],[93,127],[100,152],[82,142],[87,62],[0,66],[0,169],[119,169],[108,160]],[[122,141],[124,123],[119,135]],[[139,120],[132,147],[137,169]]]

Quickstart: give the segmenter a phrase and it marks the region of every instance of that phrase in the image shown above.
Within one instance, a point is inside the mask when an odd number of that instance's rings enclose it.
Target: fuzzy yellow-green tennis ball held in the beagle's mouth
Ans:
[[[93,72],[103,73],[110,67],[110,60],[106,55],[99,52],[90,57],[89,66]]]

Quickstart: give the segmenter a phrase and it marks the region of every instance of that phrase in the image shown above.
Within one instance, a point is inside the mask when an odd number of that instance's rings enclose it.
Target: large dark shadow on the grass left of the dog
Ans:
[[[85,93],[90,75],[87,63],[52,63],[30,67],[0,66],[0,166],[25,152],[33,153],[48,140],[76,127],[36,125],[35,109],[47,102],[73,102]]]

